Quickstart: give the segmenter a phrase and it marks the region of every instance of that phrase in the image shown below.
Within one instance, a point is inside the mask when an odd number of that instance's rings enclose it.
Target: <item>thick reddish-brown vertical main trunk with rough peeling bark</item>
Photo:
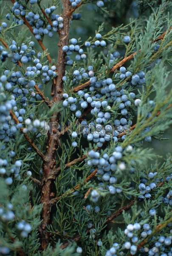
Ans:
[[[59,49],[58,49],[58,59],[56,68],[58,70],[58,76],[54,79],[51,95],[53,96],[54,102],[60,102],[62,100],[62,89],[63,89],[63,81],[62,77],[65,74],[65,56],[66,53],[63,52],[62,47],[68,44],[68,36],[69,36],[69,28],[70,28],[70,20],[72,18],[72,14],[69,15],[71,11],[71,5],[69,1],[63,0],[63,13],[62,17],[64,19],[63,28],[59,31]],[[54,113],[51,118],[51,122],[58,122],[59,116]],[[52,197],[52,188],[54,185],[54,171],[56,167],[56,148],[57,145],[60,145],[59,134],[56,132],[54,134],[48,134],[47,141],[47,154],[46,157],[48,159],[47,163],[43,164],[43,179],[42,179],[42,194],[41,194],[41,202],[43,205],[42,209],[42,224],[40,227],[40,235],[41,235],[41,249],[45,250],[48,246],[50,233],[47,232],[46,227],[50,224],[50,216],[51,216],[51,207],[50,201]]]

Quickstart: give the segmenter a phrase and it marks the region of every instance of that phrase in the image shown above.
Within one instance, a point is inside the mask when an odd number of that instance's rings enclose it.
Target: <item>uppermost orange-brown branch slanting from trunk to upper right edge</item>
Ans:
[[[172,29],[172,27],[169,29],[169,31]],[[162,35],[158,36],[158,38],[156,38],[153,42],[159,41],[159,40],[163,40],[164,36],[166,35],[167,32],[169,31],[165,31]],[[110,70],[110,73],[115,72],[118,68],[122,67],[127,61],[130,61],[134,58],[134,56],[137,54],[137,52],[133,52],[131,55],[123,58],[121,61],[119,61],[115,66],[113,66]],[[75,88],[73,88],[73,92],[76,93],[79,90],[82,90],[84,88],[86,88],[87,86],[89,86],[91,83],[90,81],[85,82],[84,84],[80,84],[78,86],[76,86]]]

